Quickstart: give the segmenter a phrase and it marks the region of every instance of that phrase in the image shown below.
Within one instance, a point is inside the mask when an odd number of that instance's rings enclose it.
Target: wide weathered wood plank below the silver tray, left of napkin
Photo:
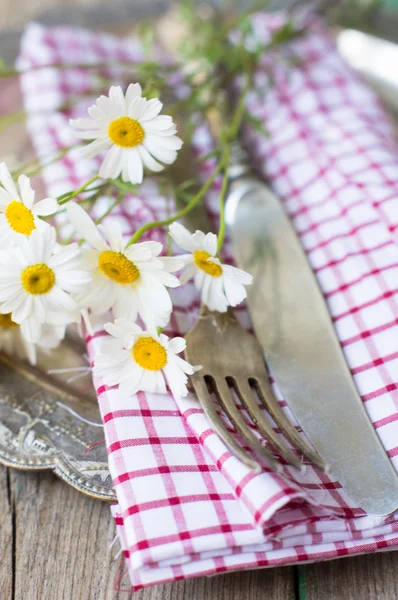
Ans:
[[[11,495],[15,600],[113,600],[117,561],[108,549],[114,537],[108,504],[50,472],[11,471]]]

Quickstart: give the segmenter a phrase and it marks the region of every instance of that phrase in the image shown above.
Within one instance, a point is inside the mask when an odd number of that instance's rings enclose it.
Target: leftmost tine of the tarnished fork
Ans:
[[[207,415],[207,418],[213,425],[220,438],[224,441],[224,443],[231,450],[231,452],[237,458],[239,458],[239,460],[241,460],[246,466],[248,466],[256,473],[260,473],[261,466],[258,464],[258,462],[253,460],[248,455],[248,453],[238,444],[235,438],[226,429],[221,417],[218,415],[216,409],[214,408],[213,401],[207,389],[207,384],[203,377],[200,375],[193,375],[191,376],[191,381],[200,405],[202,406],[204,412]]]

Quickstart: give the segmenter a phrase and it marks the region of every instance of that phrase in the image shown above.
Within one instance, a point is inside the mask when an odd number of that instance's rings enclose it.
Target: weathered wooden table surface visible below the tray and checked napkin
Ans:
[[[0,467],[1,600],[397,600],[398,552],[114,591],[106,503],[49,472]],[[121,589],[128,589],[123,578]]]

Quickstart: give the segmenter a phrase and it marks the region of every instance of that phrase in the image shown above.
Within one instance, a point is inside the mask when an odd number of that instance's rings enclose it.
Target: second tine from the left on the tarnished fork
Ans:
[[[217,377],[214,379],[215,381],[215,393],[217,395],[217,399],[228,415],[229,419],[234,424],[238,433],[242,436],[242,438],[246,441],[246,443],[253,450],[255,455],[265,462],[266,465],[271,466],[277,472],[282,471],[282,466],[279,462],[273,457],[271,452],[265,448],[260,440],[256,437],[253,431],[250,429],[249,425],[246,423],[242,413],[239,408],[236,406],[235,400],[232,396],[231,389],[228,386],[226,379],[222,377]]]

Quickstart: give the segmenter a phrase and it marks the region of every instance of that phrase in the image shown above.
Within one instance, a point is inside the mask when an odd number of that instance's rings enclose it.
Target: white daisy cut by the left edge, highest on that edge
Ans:
[[[35,202],[29,177],[20,175],[15,185],[5,163],[0,164],[0,183],[0,248],[9,248],[35,229],[48,227],[40,217],[54,214],[58,202],[54,198]]]

